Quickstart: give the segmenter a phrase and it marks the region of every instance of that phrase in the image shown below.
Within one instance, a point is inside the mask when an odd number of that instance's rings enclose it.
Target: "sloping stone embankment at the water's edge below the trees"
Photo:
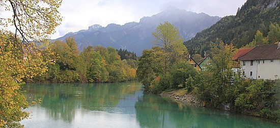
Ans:
[[[163,92],[160,95],[163,97],[172,98],[176,101],[181,101],[182,103],[190,106],[197,106],[197,107],[205,106],[197,97],[195,97],[192,94],[180,94],[177,93],[176,91],[172,91],[172,92]]]

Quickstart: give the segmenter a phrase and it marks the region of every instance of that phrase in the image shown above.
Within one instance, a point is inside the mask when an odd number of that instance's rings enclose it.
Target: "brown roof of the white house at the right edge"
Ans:
[[[280,59],[280,48],[277,44],[259,45],[242,56],[240,60],[269,60]]]

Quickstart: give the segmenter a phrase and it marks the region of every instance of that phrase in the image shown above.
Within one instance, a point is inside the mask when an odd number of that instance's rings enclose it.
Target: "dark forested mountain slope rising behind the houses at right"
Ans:
[[[247,0],[238,8],[236,15],[221,18],[210,28],[199,32],[192,39],[184,42],[190,54],[201,54],[210,48],[210,43],[217,38],[237,48],[253,41],[260,30],[266,37],[269,25],[280,25],[280,0]]]

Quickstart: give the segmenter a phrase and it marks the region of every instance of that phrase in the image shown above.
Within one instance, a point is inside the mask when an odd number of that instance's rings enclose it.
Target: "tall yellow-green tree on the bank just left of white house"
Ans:
[[[212,63],[208,65],[208,71],[200,72],[191,84],[197,88],[199,97],[214,107],[221,104],[234,105],[237,86],[234,85],[232,56],[235,48],[232,44],[217,41],[219,44],[214,44],[210,49]]]

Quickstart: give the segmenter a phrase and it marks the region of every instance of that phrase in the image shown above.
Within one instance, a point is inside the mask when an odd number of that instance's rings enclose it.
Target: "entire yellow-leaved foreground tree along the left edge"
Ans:
[[[22,79],[32,79],[47,70],[41,48],[34,42],[43,43],[60,24],[58,8],[61,0],[0,0],[10,18],[0,17],[0,127],[22,127],[18,121],[27,118],[22,111],[28,104],[21,93]],[[7,32],[12,25],[15,33]],[[19,40],[20,38],[21,40]]]

